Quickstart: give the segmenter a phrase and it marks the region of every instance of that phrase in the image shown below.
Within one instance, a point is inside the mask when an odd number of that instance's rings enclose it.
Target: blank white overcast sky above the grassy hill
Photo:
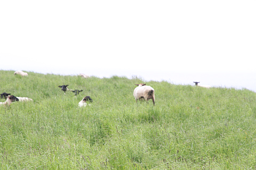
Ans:
[[[255,9],[256,1],[1,1],[0,70],[256,91]]]

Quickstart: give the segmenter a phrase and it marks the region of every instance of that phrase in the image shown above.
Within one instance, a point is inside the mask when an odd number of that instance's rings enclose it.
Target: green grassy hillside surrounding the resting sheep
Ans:
[[[250,90],[13,73],[0,70],[0,93],[34,102],[0,107],[0,169],[256,169]],[[142,82],[156,106],[135,103]],[[85,96],[93,103],[79,108]]]

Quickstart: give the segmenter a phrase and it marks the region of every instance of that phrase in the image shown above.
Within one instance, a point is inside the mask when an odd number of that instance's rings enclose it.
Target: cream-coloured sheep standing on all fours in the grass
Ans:
[[[133,91],[133,96],[136,99],[136,103],[137,100],[146,100],[148,101],[149,99],[153,100],[153,104],[155,105],[155,90],[153,88],[151,88],[150,86],[145,86],[146,84],[140,83],[140,84],[135,84],[136,86],[139,86],[137,88],[134,89]]]

